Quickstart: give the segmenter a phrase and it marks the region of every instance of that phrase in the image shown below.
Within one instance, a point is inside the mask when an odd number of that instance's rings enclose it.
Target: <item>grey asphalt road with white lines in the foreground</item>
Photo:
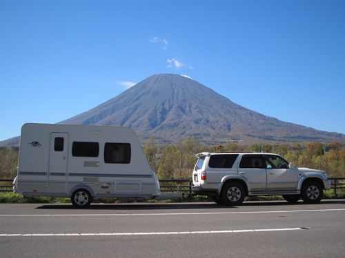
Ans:
[[[345,257],[345,200],[0,204],[0,257]]]

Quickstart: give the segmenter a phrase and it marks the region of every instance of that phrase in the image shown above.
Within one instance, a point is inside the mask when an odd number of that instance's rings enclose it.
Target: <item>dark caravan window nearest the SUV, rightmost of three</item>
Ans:
[[[106,142],[104,147],[104,162],[106,163],[130,163],[130,144]]]

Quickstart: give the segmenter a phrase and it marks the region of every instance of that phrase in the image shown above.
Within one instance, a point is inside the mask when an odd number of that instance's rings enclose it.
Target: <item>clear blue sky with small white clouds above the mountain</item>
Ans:
[[[345,1],[0,0],[0,140],[166,73],[345,133]]]

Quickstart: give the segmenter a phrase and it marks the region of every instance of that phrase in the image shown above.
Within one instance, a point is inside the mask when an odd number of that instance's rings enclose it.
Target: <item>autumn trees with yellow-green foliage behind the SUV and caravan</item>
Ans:
[[[201,144],[195,138],[185,138],[175,144],[160,144],[151,137],[143,145],[144,153],[159,179],[190,179],[197,161],[195,154],[209,152],[268,152],[282,155],[294,166],[321,169],[330,178],[345,177],[345,144],[252,144],[228,142],[221,145]],[[17,174],[18,148],[0,149],[0,178],[14,178]]]

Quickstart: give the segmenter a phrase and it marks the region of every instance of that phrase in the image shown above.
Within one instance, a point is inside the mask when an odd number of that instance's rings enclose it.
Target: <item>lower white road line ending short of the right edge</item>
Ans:
[[[272,231],[306,230],[310,228],[263,228],[244,230],[211,230],[211,231],[173,231],[173,232],[135,232],[135,233],[37,233],[37,234],[0,234],[0,237],[99,237],[99,236],[128,236],[128,235],[197,235],[224,233],[256,233]]]

